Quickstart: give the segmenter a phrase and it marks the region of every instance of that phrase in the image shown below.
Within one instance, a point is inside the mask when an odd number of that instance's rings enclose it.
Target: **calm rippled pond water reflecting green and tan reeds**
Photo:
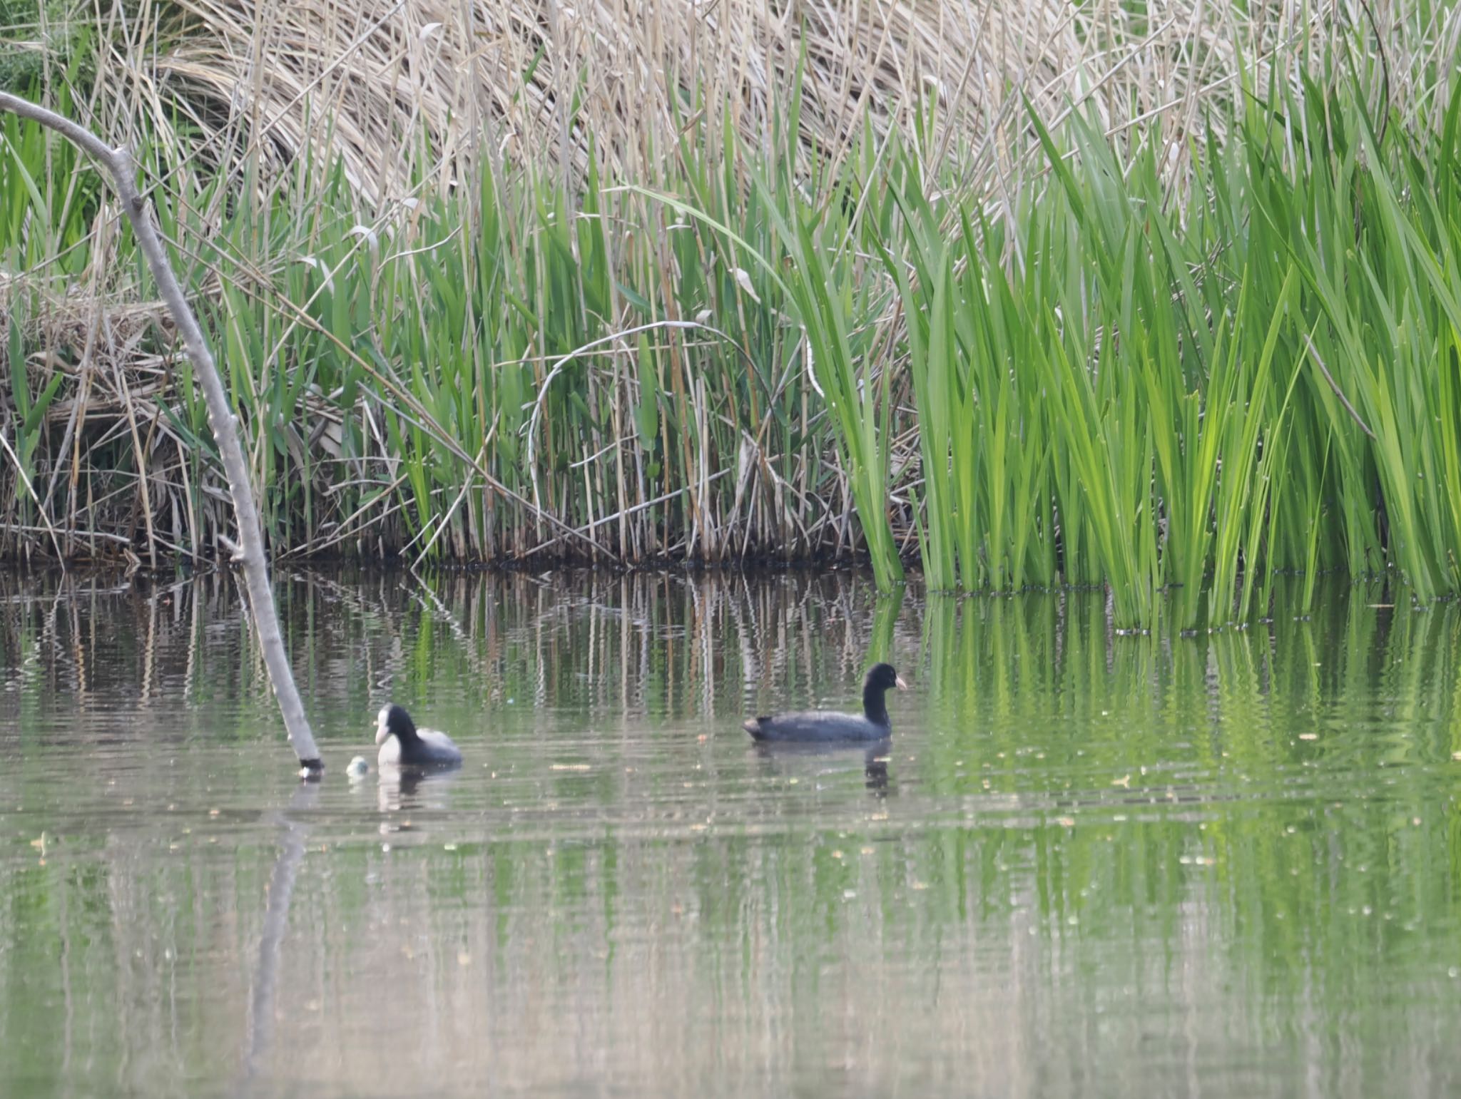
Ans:
[[[0,1095],[1461,1090],[1461,608],[869,589],[289,577],[301,786],[231,582],[0,576]]]

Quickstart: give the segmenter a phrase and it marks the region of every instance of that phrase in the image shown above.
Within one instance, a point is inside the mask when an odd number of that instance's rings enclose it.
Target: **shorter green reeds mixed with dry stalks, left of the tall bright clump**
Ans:
[[[13,129],[39,168],[44,142]],[[4,247],[64,251],[64,229],[34,232],[34,180],[6,177],[19,232]],[[818,212],[790,187],[742,189],[688,140],[646,183],[738,225],[738,243],[596,171],[570,196],[484,159],[470,187],[422,189],[378,212],[339,162],[310,156],[263,205],[232,202],[216,174],[174,174],[164,229],[191,243],[177,260],[229,371],[275,552],[643,563],[850,551],[850,495],[801,326],[779,279],[738,250],[771,254],[779,225],[814,215],[818,234],[844,234],[852,212]],[[70,254],[92,301],[136,265],[127,237],[105,272],[99,253]],[[827,272],[847,289],[847,320],[887,304],[877,281],[852,289],[856,266],[846,253]],[[226,498],[161,322],[145,341],[153,361],[95,370],[88,339],[117,355],[126,333],[88,330],[85,313],[58,333],[64,298],[15,298],[25,478],[12,531],[44,544],[54,528],[63,552],[105,550],[70,533],[102,531],[210,554]],[[112,324],[110,308],[96,314]],[[865,357],[874,332],[839,338]]]

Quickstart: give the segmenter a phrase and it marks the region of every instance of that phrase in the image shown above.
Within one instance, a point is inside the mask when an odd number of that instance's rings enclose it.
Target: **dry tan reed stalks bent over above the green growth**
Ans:
[[[126,10],[126,18],[118,12]],[[799,89],[808,164],[842,158],[865,123],[912,133],[937,101],[928,153],[998,186],[1045,118],[1088,104],[1110,130],[1161,121],[1170,167],[1214,102],[1343,51],[1350,31],[1391,54],[1389,92],[1448,56],[1455,20],[1410,0],[137,0],[94,19],[105,44],[98,110],[149,115],[180,152],[241,145],[275,162],[342,158],[371,199],[409,190],[416,159],[487,155],[581,170],[590,142],[612,177],[652,180],[698,113],[725,111],[770,148],[774,107]],[[1280,66],[1271,73],[1273,64]],[[174,114],[178,111],[180,114]],[[178,132],[184,123],[193,133]],[[712,127],[717,129],[717,127]],[[425,136],[425,143],[421,137]]]

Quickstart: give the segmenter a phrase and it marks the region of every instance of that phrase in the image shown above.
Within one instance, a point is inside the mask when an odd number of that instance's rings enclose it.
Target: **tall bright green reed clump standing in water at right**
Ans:
[[[1122,151],[1031,113],[1049,177],[1005,225],[900,193],[881,256],[909,317],[931,586],[1001,590],[1058,560],[1131,628],[1249,621],[1274,570],[1305,573],[1303,605],[1335,566],[1394,563],[1420,602],[1455,590],[1457,113],[1432,155],[1376,133],[1349,86],[1249,96],[1186,202],[1156,136]]]

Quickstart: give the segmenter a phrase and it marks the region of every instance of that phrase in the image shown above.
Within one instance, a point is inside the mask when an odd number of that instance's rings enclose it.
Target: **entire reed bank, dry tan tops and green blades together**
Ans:
[[[1461,583],[1445,10],[131,10],[35,86],[142,140],[276,557],[861,554],[1124,630]],[[212,557],[130,237],[0,152],[0,550]]]

